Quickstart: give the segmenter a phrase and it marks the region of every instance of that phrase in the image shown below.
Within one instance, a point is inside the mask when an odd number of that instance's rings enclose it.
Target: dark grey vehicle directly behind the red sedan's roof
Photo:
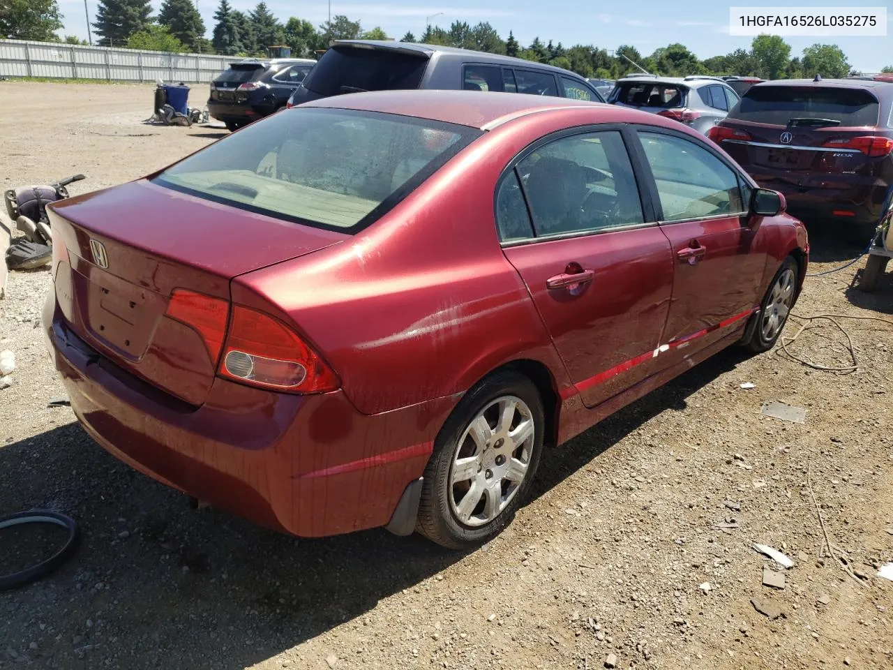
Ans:
[[[451,46],[346,39],[322,54],[289,106],[343,93],[436,88],[605,102],[580,75],[543,63]]]

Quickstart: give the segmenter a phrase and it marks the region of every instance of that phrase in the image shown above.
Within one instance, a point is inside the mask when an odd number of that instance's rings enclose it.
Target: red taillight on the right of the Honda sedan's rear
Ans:
[[[338,389],[335,373],[295,332],[240,305],[233,306],[219,373],[267,389],[297,393]]]

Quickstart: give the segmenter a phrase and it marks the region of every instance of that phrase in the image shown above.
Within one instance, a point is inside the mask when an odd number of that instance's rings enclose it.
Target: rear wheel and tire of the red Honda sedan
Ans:
[[[527,377],[505,371],[480,381],[434,442],[416,531],[447,549],[473,549],[496,537],[530,490],[545,426],[542,398]]]

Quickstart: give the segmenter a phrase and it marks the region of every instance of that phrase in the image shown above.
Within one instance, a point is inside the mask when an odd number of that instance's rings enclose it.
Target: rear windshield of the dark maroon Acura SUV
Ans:
[[[876,126],[878,99],[860,88],[755,86],[730,119],[786,126],[791,119],[828,119],[841,126]]]

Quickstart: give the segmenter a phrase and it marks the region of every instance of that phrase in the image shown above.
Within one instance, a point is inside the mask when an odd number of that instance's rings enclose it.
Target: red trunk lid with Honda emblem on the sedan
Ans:
[[[65,200],[50,208],[50,220],[56,299],[71,331],[194,406],[211,389],[217,361],[199,331],[166,315],[171,293],[229,302],[233,277],[347,237],[146,180]]]

